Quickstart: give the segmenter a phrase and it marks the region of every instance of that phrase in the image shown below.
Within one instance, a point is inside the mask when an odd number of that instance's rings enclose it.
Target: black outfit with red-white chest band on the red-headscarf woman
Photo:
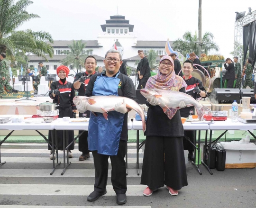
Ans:
[[[60,96],[53,97],[53,90],[60,90]],[[59,118],[70,117],[73,118],[73,109],[76,109],[73,98],[75,96],[75,91],[73,88],[73,83],[66,81],[66,79],[60,79],[59,81],[54,81],[51,84],[51,88],[49,91],[49,96],[53,99],[53,103],[60,105],[57,107],[59,109]],[[58,135],[58,150],[63,150],[63,131],[57,131]],[[52,135],[51,130],[49,130],[48,135],[49,143],[52,143]],[[74,131],[68,131],[68,141],[69,144],[74,140]],[[69,150],[74,149],[74,143],[69,147]],[[52,150],[52,148],[48,145],[48,150]]]

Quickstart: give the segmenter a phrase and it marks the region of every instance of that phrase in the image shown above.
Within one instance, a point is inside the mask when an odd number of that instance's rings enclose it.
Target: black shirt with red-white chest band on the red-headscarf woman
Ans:
[[[60,90],[60,96],[53,97],[53,90]],[[66,109],[72,107],[72,109],[76,109],[75,104],[73,103],[73,98],[75,96],[75,91],[73,88],[73,83],[69,81],[65,81],[63,84],[60,80],[54,81],[51,83],[51,88],[49,91],[49,96],[53,99],[53,103],[59,104],[59,109]]]

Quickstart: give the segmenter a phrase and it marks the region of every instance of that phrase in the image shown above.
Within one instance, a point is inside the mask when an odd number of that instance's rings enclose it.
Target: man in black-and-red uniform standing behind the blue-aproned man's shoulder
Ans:
[[[74,79],[74,89],[78,90],[78,95],[84,96],[86,87],[88,85],[88,82],[93,74],[95,74],[95,69],[97,66],[97,61],[94,56],[90,55],[87,56],[84,60],[84,68],[86,69],[86,72],[79,72],[75,75]],[[100,68],[100,67],[99,67]],[[102,72],[102,67],[101,67]],[[79,113],[79,118],[86,117],[90,118],[90,111],[87,110],[84,113]],[[79,134],[81,134],[82,131],[79,131]],[[81,136],[79,136],[78,140],[78,150],[82,152],[82,154],[79,157],[80,161],[86,160],[90,157],[90,151],[88,149],[88,131],[84,131]]]

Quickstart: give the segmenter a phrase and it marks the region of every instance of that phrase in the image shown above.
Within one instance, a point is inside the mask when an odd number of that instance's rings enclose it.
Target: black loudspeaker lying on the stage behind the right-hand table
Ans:
[[[240,89],[214,89],[210,93],[210,101],[217,101],[218,103],[228,102],[233,103],[234,99],[238,102],[241,99],[241,90]]]

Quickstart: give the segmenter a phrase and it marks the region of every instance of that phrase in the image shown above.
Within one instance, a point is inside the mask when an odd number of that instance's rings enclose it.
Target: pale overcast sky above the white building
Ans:
[[[186,31],[198,31],[198,0],[33,0],[27,8],[41,18],[19,29],[44,30],[54,40],[97,40],[101,24],[124,15],[134,25],[137,40],[171,41]],[[255,0],[202,0],[202,31],[213,33],[219,54],[234,50],[235,12],[256,9]]]

